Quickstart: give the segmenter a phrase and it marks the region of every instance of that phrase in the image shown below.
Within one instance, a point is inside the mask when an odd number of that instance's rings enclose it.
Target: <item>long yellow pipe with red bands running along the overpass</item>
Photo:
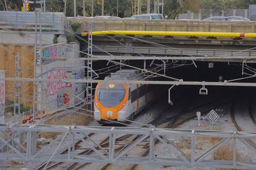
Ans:
[[[88,36],[89,33],[82,33]],[[194,31],[92,31],[93,36],[104,34],[125,34],[125,35],[148,35],[148,36],[207,36],[207,37],[234,37],[234,38],[254,38],[256,33],[219,33],[219,32],[194,32]]]

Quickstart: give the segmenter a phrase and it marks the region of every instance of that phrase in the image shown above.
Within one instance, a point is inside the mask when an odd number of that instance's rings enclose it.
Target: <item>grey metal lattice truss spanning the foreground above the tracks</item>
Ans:
[[[254,169],[256,160],[239,161],[236,152],[239,145],[249,148],[250,152],[255,153],[256,148],[249,144],[250,139],[256,139],[255,132],[233,132],[233,131],[200,131],[200,130],[182,130],[182,129],[158,129],[158,128],[135,128],[135,127],[92,127],[92,126],[41,126],[41,125],[14,125],[8,126],[2,124],[1,132],[1,150],[0,160],[14,161],[39,161],[48,162],[72,162],[72,163],[122,163],[122,164],[153,164],[167,166],[187,166],[209,167],[209,168],[234,168],[234,169]],[[23,141],[27,145],[22,145],[19,141],[9,136],[10,132],[24,132]],[[58,132],[51,143],[40,147],[36,143],[37,134],[41,132]],[[89,137],[88,134],[107,134],[109,136],[109,146],[101,147],[96,140]],[[130,143],[129,147],[124,148],[122,152],[116,150],[117,136],[125,134],[139,135],[139,137]],[[4,137],[5,138],[4,138]],[[11,139],[14,145],[6,142],[6,138]],[[177,147],[180,139],[187,139],[189,148]],[[203,150],[198,148],[200,138],[218,139],[216,144]],[[91,148],[93,153],[90,155],[77,155],[72,150],[76,140],[82,140],[85,148]],[[169,150],[168,157],[155,155],[155,139],[159,140],[164,150]],[[149,145],[150,152],[148,156],[136,157],[130,151],[139,145]],[[201,141],[202,142],[202,141]],[[53,144],[59,144],[54,147]],[[25,147],[24,147],[25,146]],[[221,147],[231,147],[233,156],[231,160],[216,160],[213,158],[215,153]],[[54,147],[54,148],[53,148]],[[61,147],[68,148],[66,153],[61,154]],[[36,148],[40,148],[39,150]],[[160,145],[158,144],[158,149]],[[9,152],[8,152],[9,151]]]

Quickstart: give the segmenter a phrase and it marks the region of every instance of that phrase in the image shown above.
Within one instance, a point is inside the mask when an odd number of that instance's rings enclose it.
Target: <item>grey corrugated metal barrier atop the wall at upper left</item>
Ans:
[[[41,24],[43,34],[64,33],[64,14],[62,12],[40,12],[37,23]],[[35,31],[35,12],[0,11],[0,30]]]

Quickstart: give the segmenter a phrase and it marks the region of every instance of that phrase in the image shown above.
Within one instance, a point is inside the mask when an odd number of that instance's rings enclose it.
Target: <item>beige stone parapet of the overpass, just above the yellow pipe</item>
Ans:
[[[214,22],[202,20],[99,20],[85,17],[67,18],[66,27],[81,23],[77,32],[88,31],[88,23],[93,31],[133,30],[133,31],[203,31],[255,33],[256,22]]]

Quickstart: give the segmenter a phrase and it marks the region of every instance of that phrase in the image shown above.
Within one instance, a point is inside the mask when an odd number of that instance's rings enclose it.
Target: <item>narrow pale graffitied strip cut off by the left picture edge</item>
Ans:
[[[4,70],[0,70],[0,78],[4,78]],[[4,123],[5,109],[5,81],[0,81],[0,123]]]

